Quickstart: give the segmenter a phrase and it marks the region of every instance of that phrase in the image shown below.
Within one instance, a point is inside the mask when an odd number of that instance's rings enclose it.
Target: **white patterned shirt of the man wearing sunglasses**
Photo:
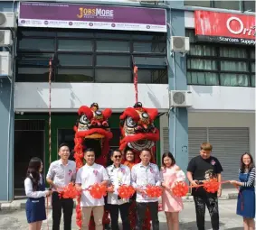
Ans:
[[[114,192],[108,193],[108,204],[110,205],[122,205],[128,203],[127,198],[119,199],[119,186],[121,185],[130,185],[130,170],[128,166],[121,164],[119,168],[116,168],[114,165],[110,165],[107,168],[109,174],[110,185],[114,186]]]

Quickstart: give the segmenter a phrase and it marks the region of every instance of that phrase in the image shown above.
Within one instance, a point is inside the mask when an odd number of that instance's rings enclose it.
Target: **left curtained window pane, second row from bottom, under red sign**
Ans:
[[[187,60],[187,69],[217,70],[217,61],[201,59]]]

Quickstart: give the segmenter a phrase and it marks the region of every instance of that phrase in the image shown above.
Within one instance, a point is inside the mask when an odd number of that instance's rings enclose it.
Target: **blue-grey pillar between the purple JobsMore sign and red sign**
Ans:
[[[172,2],[170,2],[171,4]],[[186,90],[186,57],[180,53],[171,54],[170,37],[185,36],[185,13],[171,9],[167,13],[169,24],[168,44],[168,84],[169,90]],[[175,155],[175,161],[182,170],[188,163],[188,121],[186,108],[173,108],[169,111],[169,149]]]

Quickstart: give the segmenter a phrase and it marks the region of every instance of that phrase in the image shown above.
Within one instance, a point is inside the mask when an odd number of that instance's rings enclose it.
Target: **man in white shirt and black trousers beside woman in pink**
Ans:
[[[141,162],[133,166],[131,170],[132,186],[137,189],[137,224],[136,229],[141,230],[145,221],[147,207],[152,218],[153,230],[159,230],[158,198],[148,198],[145,192],[147,185],[160,186],[161,179],[158,166],[150,163],[151,153],[144,149],[139,155]]]

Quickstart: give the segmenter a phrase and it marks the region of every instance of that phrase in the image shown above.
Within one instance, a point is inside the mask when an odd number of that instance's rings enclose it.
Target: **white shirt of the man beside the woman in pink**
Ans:
[[[160,172],[158,166],[153,163],[149,163],[144,166],[141,162],[136,164],[131,169],[131,184],[135,189],[146,189],[147,185],[160,186]],[[137,202],[156,202],[158,198],[148,198],[145,194],[142,196],[140,192],[137,192]]]

